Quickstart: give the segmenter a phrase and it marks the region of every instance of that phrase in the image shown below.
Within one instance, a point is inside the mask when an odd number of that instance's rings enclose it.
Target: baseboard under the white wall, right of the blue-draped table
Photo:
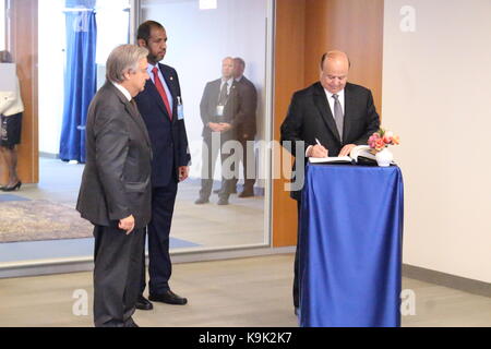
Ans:
[[[403,264],[403,276],[424,282],[444,286],[472,294],[490,297],[491,284],[452,274],[445,274],[418,266]]]

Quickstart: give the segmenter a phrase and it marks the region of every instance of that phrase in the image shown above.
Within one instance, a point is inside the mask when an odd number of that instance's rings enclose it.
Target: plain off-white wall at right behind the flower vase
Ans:
[[[415,10],[415,32],[399,13]],[[407,24],[407,22],[405,22]],[[405,181],[404,263],[491,282],[491,2],[385,1],[383,124]]]

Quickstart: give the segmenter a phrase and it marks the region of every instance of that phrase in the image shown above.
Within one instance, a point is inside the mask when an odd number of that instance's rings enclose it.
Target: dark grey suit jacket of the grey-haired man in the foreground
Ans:
[[[152,149],[136,108],[110,82],[91,103],[86,122],[87,160],[76,209],[98,226],[117,226],[133,215],[135,228],[151,219]]]

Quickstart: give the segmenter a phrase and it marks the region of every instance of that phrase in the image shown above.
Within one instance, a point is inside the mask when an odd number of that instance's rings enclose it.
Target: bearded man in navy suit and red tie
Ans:
[[[169,233],[178,183],[188,178],[191,156],[188,151],[181,87],[176,70],[160,64],[167,51],[167,33],[161,24],[147,21],[137,29],[139,46],[148,49],[145,89],[135,97],[152,142],[152,220],[148,225],[149,300],[183,305],[188,300],[169,287],[172,264]],[[143,242],[144,243],[144,242]],[[141,266],[141,289],[136,308],[153,309],[143,297],[145,260]]]

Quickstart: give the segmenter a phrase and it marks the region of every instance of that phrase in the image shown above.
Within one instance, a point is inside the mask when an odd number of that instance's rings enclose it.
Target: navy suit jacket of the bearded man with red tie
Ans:
[[[191,161],[184,120],[178,120],[178,97],[182,103],[178,74],[169,65],[159,63],[158,68],[172,95],[172,121],[152,80],[146,82],[145,89],[134,98],[152,142],[153,186],[167,185],[170,179],[178,182],[179,167],[188,166]]]

